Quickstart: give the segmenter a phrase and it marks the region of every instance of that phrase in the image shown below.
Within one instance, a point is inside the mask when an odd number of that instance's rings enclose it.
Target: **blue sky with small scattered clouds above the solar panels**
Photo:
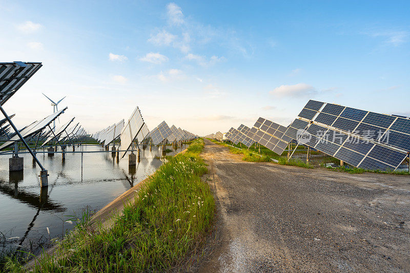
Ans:
[[[165,120],[198,135],[289,125],[309,99],[410,116],[408,1],[4,1],[0,62],[43,67],[18,127],[68,106],[90,133]],[[58,125],[58,122],[57,122]]]

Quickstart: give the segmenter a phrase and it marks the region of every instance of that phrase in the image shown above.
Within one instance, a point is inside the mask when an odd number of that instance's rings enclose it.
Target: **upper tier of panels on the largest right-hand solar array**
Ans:
[[[299,117],[312,120],[323,104],[310,100]],[[408,119],[327,103],[314,121],[410,151]]]

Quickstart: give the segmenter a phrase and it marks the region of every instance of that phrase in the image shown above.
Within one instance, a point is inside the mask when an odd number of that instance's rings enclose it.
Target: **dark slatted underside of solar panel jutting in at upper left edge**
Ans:
[[[42,67],[40,62],[1,62],[0,105],[13,96],[40,67]]]

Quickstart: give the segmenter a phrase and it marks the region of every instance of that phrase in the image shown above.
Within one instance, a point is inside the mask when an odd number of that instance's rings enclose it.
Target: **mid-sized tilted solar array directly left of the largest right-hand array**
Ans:
[[[301,120],[295,120],[289,127],[284,127],[275,122],[259,118],[251,132],[255,133],[253,139],[256,142],[280,155],[286,149],[286,146],[297,138],[297,131],[304,129],[306,125],[307,123],[305,124]]]

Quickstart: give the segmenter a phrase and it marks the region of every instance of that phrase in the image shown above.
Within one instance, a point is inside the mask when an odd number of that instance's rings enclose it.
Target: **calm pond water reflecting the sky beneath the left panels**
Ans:
[[[185,149],[167,146],[174,155]],[[67,147],[72,151],[72,147]],[[81,147],[75,147],[80,151]],[[84,151],[104,150],[88,146]],[[13,230],[9,237],[20,238],[60,236],[63,221],[58,217],[79,213],[85,206],[99,210],[114,198],[152,174],[161,164],[162,146],[141,149],[141,161],[133,168],[128,166],[128,154],[117,161],[108,153],[84,153],[81,167],[80,153],[67,153],[63,163],[61,154],[48,156],[37,153],[38,160],[49,172],[48,189],[40,190],[40,168],[33,165],[29,154],[24,157],[24,170],[9,172],[9,157],[0,155],[0,232]],[[67,219],[68,217],[65,217]],[[68,223],[64,229],[70,229]],[[25,240],[27,242],[27,240]],[[18,242],[17,242],[18,243]]]

